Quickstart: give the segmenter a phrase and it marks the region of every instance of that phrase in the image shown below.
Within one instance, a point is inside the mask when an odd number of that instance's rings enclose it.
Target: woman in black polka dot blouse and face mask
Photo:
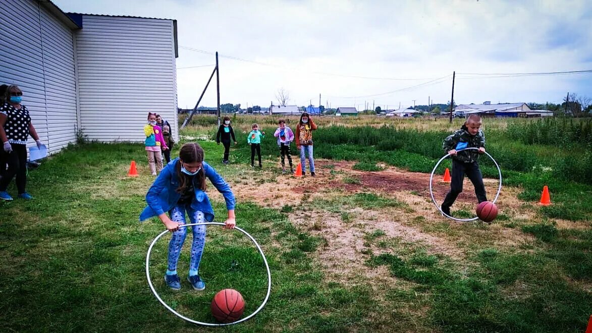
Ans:
[[[33,199],[25,192],[27,185],[27,138],[35,139],[37,147],[41,147],[39,135],[31,124],[31,117],[27,107],[21,105],[22,91],[18,86],[8,86],[5,103],[0,105],[0,140],[3,148],[0,151],[3,161],[7,161],[8,169],[2,173],[0,179],[0,199],[12,200],[6,192],[8,184],[17,176],[18,198]]]

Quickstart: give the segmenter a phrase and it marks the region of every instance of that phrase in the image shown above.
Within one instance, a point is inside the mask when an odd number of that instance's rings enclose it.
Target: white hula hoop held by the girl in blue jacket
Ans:
[[[179,227],[181,228],[186,228],[186,227],[191,227],[192,225],[208,225],[208,224],[217,224],[217,225],[225,225],[223,223],[220,222],[203,222],[203,223],[191,223],[191,224],[183,224],[183,225],[179,225]],[[146,279],[148,280],[148,285],[150,286],[150,290],[152,290],[152,293],[154,294],[154,296],[156,297],[156,299],[165,306],[165,308],[167,308],[170,312],[174,313],[176,316],[178,316],[181,319],[185,319],[188,322],[192,322],[193,324],[198,324],[198,325],[204,325],[204,326],[227,326],[227,325],[234,325],[234,324],[239,324],[239,322],[243,322],[246,321],[248,319],[250,319],[252,316],[255,316],[259,311],[261,311],[261,309],[263,309],[263,306],[265,306],[265,303],[267,303],[267,300],[269,299],[269,293],[271,292],[271,271],[269,270],[269,264],[267,263],[267,259],[265,258],[265,255],[263,254],[263,250],[261,250],[261,247],[259,246],[259,244],[257,243],[257,241],[255,241],[255,238],[253,238],[251,235],[249,235],[246,231],[244,231],[243,229],[239,228],[239,227],[234,227],[234,229],[237,229],[240,232],[243,232],[243,234],[247,235],[247,237],[249,237],[253,243],[255,243],[255,246],[257,247],[257,249],[259,250],[259,253],[261,254],[261,256],[263,257],[263,263],[265,263],[265,268],[267,269],[267,295],[265,295],[265,299],[263,300],[263,303],[261,303],[261,305],[259,306],[259,308],[257,308],[255,310],[255,312],[251,313],[250,315],[244,317],[243,319],[240,319],[238,321],[235,322],[229,322],[229,323],[225,323],[225,324],[213,324],[210,322],[201,322],[201,321],[195,321],[191,318],[187,318],[184,315],[181,315],[181,313],[176,312],[175,310],[173,310],[170,306],[168,306],[158,295],[158,293],[156,292],[156,290],[154,289],[154,286],[152,285],[152,281],[150,280],[150,253],[152,252],[152,247],[154,246],[154,244],[156,244],[156,241],[160,239],[160,237],[162,237],[163,235],[167,234],[169,231],[165,230],[163,232],[160,233],[160,235],[157,235],[156,238],[152,241],[152,244],[150,244],[150,247],[148,248],[148,253],[146,254]]]

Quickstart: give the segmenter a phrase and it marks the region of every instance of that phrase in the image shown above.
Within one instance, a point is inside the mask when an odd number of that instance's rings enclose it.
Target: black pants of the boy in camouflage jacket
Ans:
[[[464,163],[456,160],[452,160],[452,182],[450,185],[450,192],[446,194],[446,198],[444,198],[444,202],[442,202],[442,207],[450,208],[456,197],[461,194],[462,192],[462,181],[465,179],[465,174],[475,186],[475,195],[477,195],[477,200],[481,203],[487,201],[487,196],[485,195],[485,186],[483,185],[483,176],[481,175],[481,170],[479,170],[479,163],[477,162],[469,162]]]

